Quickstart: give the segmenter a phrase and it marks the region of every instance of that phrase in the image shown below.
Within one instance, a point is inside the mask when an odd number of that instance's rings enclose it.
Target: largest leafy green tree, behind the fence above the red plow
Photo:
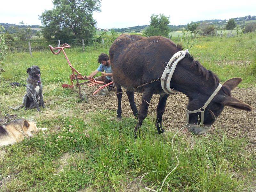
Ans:
[[[53,9],[39,17],[45,38],[92,40],[96,24],[92,13],[100,11],[100,0],[53,0],[52,3]]]

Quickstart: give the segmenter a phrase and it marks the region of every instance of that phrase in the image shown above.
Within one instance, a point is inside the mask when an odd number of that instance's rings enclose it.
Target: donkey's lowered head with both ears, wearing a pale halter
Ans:
[[[190,126],[190,131],[195,134],[202,134],[211,127],[211,125],[215,122],[216,118],[220,115],[224,106],[229,106],[237,109],[242,109],[246,111],[252,111],[252,107],[243,103],[242,101],[236,99],[231,96],[231,91],[242,81],[242,78],[235,77],[227,80],[221,87],[220,91],[216,94],[213,100],[209,103],[209,105],[202,111],[204,111],[204,119],[201,122],[201,112],[197,113],[189,113],[188,116],[188,124]],[[212,94],[212,93],[210,93]],[[188,110],[193,111],[200,109],[204,106],[205,102],[208,100],[209,94],[198,95],[194,99],[190,99],[188,102]],[[188,125],[187,124],[187,125]],[[204,126],[196,126],[196,125],[204,125]],[[206,129],[205,129],[205,128]]]

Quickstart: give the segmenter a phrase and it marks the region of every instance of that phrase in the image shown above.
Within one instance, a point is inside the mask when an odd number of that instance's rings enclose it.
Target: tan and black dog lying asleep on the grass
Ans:
[[[32,137],[33,133],[39,130],[45,131],[46,128],[37,128],[35,123],[25,119],[16,119],[0,125],[0,147],[20,142],[25,137]]]

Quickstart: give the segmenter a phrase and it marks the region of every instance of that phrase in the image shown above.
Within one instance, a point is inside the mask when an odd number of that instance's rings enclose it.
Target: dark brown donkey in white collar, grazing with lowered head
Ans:
[[[176,46],[171,40],[161,37],[142,37],[135,35],[121,35],[112,44],[109,50],[110,63],[113,70],[113,78],[117,92],[122,92],[122,87],[127,90],[145,84],[162,76],[164,71],[163,64],[168,62],[171,57],[182,48]],[[223,110],[224,106],[230,106],[246,111],[251,111],[252,107],[231,97],[233,90],[240,82],[241,78],[236,77],[226,81],[218,94],[207,106],[204,112],[204,124],[212,125]],[[211,96],[218,86],[219,78],[205,69],[199,61],[193,59],[186,53],[172,76],[171,88],[186,94],[189,98],[187,108],[196,110],[201,108],[206,100]],[[142,92],[142,102],[139,113],[134,102],[134,91]],[[157,105],[156,128],[158,133],[163,133],[162,116],[164,114],[166,94],[161,87],[161,82],[156,81],[132,91],[126,91],[133,115],[138,115],[138,124],[134,129],[136,137],[137,131],[148,114],[148,105],[153,94],[160,94]],[[121,118],[121,99],[122,93],[117,94],[118,109],[117,118]],[[185,120],[185,116],[184,116]],[[197,124],[199,113],[190,114],[189,124]],[[185,121],[184,121],[185,122]]]

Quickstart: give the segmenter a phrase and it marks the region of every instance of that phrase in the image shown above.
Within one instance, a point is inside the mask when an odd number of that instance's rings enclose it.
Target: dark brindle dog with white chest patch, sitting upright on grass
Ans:
[[[40,68],[36,65],[27,69],[28,78],[27,78],[27,92],[23,97],[23,102],[21,106],[10,107],[14,110],[25,107],[26,109],[37,108],[37,111],[40,111],[39,105],[44,108],[43,100],[43,85],[41,83],[41,72]]]

